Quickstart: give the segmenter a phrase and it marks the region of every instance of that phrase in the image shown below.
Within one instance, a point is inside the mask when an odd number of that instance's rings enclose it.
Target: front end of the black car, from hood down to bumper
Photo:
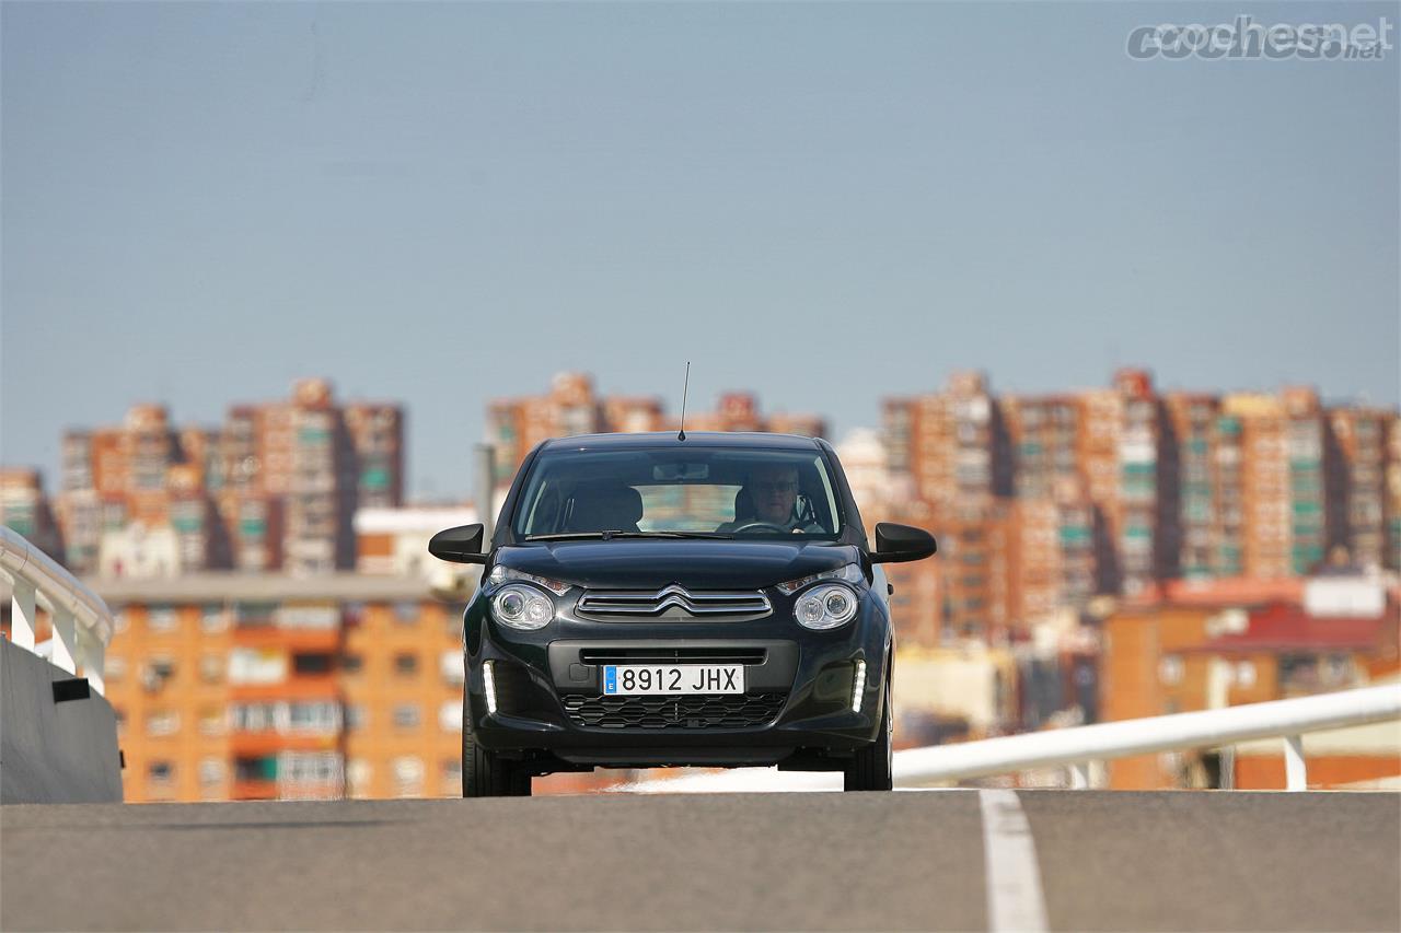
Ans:
[[[590,581],[545,576],[577,549],[601,560]],[[880,728],[891,656],[888,609],[859,558],[786,542],[503,549],[465,615],[467,727],[539,773],[841,769]],[[609,580],[608,565],[650,570]],[[765,565],[803,572],[757,580]]]

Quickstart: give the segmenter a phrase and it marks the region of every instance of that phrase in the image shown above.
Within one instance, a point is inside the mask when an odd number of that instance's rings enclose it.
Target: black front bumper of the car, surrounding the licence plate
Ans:
[[[832,632],[804,629],[780,607],[748,622],[597,622],[566,615],[541,630],[520,632],[497,625],[481,594],[468,607],[464,630],[464,726],[483,748],[542,762],[542,770],[663,765],[836,769],[877,738],[891,656],[888,615],[869,593],[857,616]],[[678,703],[664,710],[664,726],[654,716],[584,714],[602,709],[600,657],[626,663],[614,658],[629,651],[657,657],[668,650],[682,654],[670,663],[691,663],[686,653],[698,651],[710,657],[747,654],[745,695],[730,700],[740,712],[706,719],[699,705],[692,705],[696,716],[689,719]],[[486,703],[486,661],[493,663],[496,712]],[[866,664],[866,686],[860,710],[853,712],[857,661]],[[653,706],[665,702],[649,700]],[[629,703],[629,709],[636,712],[642,705]]]

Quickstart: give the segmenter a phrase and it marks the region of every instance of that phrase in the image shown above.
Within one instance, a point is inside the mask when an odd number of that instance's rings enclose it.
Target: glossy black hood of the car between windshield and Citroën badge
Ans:
[[[584,587],[758,590],[855,563],[852,545],[786,541],[541,541],[502,548],[496,562]]]

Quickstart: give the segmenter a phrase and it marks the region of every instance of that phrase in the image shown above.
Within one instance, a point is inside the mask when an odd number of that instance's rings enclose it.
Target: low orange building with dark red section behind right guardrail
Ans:
[[[1401,672],[1394,583],[1376,574],[1173,581],[1104,621],[1105,720],[1217,709],[1348,689]],[[1316,782],[1401,775],[1401,749],[1310,762]],[[1252,762],[1237,787],[1283,786],[1283,766]],[[1110,786],[1210,785],[1213,756],[1154,755],[1110,763]],[[1217,778],[1219,779],[1219,778]]]

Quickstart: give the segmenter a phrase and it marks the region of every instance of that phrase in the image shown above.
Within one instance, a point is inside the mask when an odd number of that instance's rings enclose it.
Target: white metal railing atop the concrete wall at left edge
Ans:
[[[10,602],[10,640],[35,650],[35,609],[53,623],[50,661],[78,674],[98,693],[106,692],[102,660],[112,642],[112,611],[99,595],[35,548],[13,528],[0,525],[0,576],[14,588]]]

